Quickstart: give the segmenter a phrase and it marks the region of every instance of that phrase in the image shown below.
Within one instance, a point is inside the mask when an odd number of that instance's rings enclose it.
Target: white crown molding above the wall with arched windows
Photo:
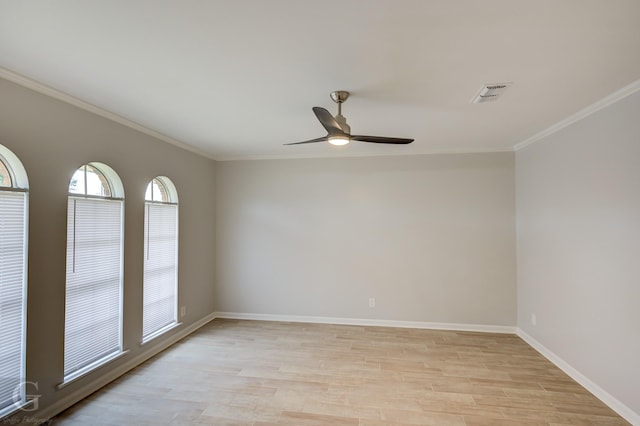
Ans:
[[[210,160],[215,160],[215,158],[210,153],[202,151],[191,145],[187,145],[184,142],[181,142],[177,139],[173,139],[170,136],[157,132],[146,126],[143,126],[140,123],[136,123],[133,120],[129,120],[128,118],[125,118],[121,115],[115,114],[111,111],[107,111],[106,109],[100,108],[99,106],[96,106],[89,102],[78,99],[73,95],[70,95],[58,89],[54,89],[53,87],[50,87],[50,86],[47,86],[46,84],[32,80],[14,71],[10,71],[6,68],[0,67],[0,78],[4,78],[5,80],[8,80],[8,81],[11,81],[12,83],[26,87],[27,89],[34,90],[38,93],[42,93],[43,95],[47,95],[51,98],[71,104],[85,111],[89,111],[93,114],[99,115],[100,117],[106,118],[107,120],[115,121],[118,124],[122,124],[123,126],[129,127],[130,129],[133,129],[133,130],[137,130],[138,132],[144,133],[145,135],[151,136],[163,142],[166,142],[171,145],[177,146],[179,148],[185,149],[187,151],[193,152],[194,154],[198,154],[202,157],[209,158]]]

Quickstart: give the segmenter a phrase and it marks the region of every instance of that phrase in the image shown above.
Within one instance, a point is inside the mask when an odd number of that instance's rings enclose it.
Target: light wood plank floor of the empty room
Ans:
[[[59,425],[627,425],[514,335],[214,320]]]

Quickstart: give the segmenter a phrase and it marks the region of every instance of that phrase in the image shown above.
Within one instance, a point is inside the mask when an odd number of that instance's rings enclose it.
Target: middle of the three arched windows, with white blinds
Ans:
[[[105,164],[85,164],[69,183],[65,383],[122,353],[123,200]]]

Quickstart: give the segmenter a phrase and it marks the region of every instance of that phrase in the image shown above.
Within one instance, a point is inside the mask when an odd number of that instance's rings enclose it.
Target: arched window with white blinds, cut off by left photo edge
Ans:
[[[25,399],[27,174],[0,145],[0,418]]]

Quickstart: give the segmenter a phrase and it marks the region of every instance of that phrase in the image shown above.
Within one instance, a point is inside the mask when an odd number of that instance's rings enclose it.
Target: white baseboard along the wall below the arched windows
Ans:
[[[145,351],[144,353],[141,353],[141,354],[131,358],[130,360],[128,360],[124,364],[114,368],[113,370],[107,372],[103,376],[101,376],[101,377],[99,377],[99,378],[97,378],[95,380],[92,380],[90,383],[86,384],[85,386],[82,386],[81,388],[73,391],[69,395],[57,400],[55,403],[51,404],[50,406],[48,406],[43,411],[38,412],[38,413],[31,413],[31,414],[33,414],[34,418],[43,419],[43,421],[45,419],[52,418],[56,414],[59,414],[59,413],[63,412],[64,410],[66,410],[67,408],[71,407],[73,404],[77,403],[78,401],[80,401],[80,400],[86,398],[87,396],[91,395],[92,393],[94,393],[95,391],[100,389],[101,387],[106,386],[107,384],[111,383],[112,381],[114,381],[118,377],[122,376],[123,374],[125,374],[129,370],[134,369],[135,367],[137,367],[138,365],[142,364],[143,362],[145,362],[149,358],[157,355],[158,353],[160,353],[163,350],[167,349],[169,346],[171,346],[174,343],[178,342],[179,340],[187,337],[189,334],[193,333],[194,331],[196,331],[200,327],[204,326],[208,322],[214,320],[215,318],[216,318],[215,314],[207,315],[206,317],[194,322],[193,324],[189,325],[188,327],[184,328],[183,330],[177,332],[176,334],[174,334],[173,336],[171,336],[170,338],[168,338],[164,342],[158,344],[158,346],[155,346],[155,347],[149,349],[148,351]]]

